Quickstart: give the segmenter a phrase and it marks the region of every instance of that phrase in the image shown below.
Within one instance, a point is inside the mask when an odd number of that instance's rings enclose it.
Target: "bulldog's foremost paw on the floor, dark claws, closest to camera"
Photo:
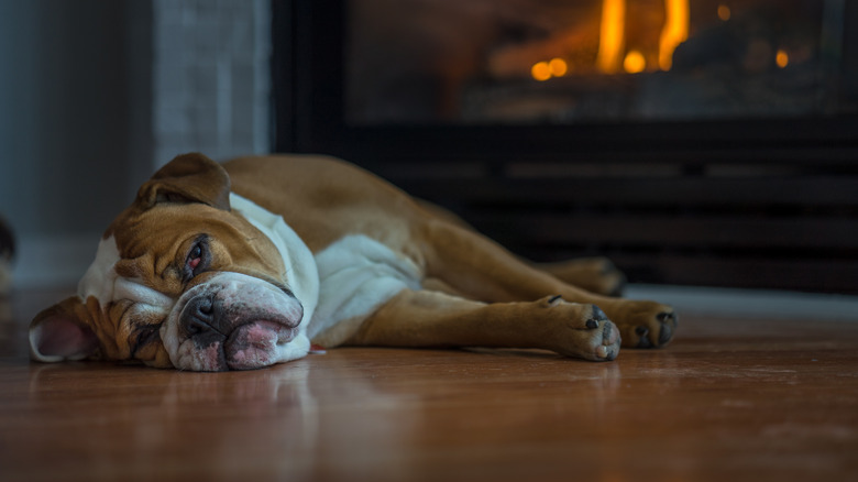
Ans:
[[[610,361],[619,354],[620,331],[596,305],[566,303],[560,296],[543,300],[559,332],[550,337],[551,349],[568,357]]]

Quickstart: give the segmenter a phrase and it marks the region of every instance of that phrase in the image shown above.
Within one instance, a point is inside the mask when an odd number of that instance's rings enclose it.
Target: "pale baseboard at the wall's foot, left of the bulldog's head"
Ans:
[[[96,256],[101,233],[23,235],[15,242],[13,288],[74,287]]]

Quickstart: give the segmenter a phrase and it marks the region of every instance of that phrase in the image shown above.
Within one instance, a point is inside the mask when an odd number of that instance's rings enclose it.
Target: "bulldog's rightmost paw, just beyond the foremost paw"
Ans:
[[[623,346],[628,348],[661,348],[673,339],[679,317],[673,307],[654,302],[623,300],[612,310],[619,327]]]

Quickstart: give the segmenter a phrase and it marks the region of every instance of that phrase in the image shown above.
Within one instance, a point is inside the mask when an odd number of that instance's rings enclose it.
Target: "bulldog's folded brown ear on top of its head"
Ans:
[[[141,186],[136,202],[144,209],[158,202],[202,202],[229,211],[230,176],[202,154],[183,154]]]

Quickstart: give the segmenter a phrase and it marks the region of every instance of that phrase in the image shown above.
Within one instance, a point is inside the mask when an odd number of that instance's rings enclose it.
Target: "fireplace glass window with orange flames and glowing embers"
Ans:
[[[855,112],[845,1],[354,0],[354,124],[795,118]]]

